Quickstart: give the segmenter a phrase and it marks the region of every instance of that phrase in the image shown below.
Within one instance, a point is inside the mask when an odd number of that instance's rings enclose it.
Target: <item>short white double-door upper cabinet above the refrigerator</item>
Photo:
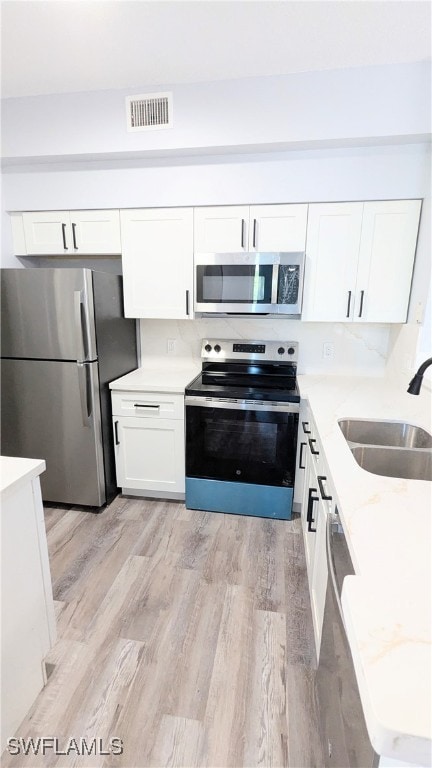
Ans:
[[[121,253],[120,214],[106,211],[31,211],[13,218],[15,253],[28,256]],[[23,235],[23,236],[22,236]]]

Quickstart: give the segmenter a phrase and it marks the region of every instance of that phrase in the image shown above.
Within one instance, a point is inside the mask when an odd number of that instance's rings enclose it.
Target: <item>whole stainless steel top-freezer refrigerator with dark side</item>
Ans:
[[[45,501],[100,507],[117,487],[108,383],[137,366],[122,279],[1,270],[1,453],[45,459]]]

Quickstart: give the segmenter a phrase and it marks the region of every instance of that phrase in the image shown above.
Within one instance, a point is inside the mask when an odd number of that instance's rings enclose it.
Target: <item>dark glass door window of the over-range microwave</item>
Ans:
[[[196,300],[204,304],[270,304],[271,264],[198,265]]]

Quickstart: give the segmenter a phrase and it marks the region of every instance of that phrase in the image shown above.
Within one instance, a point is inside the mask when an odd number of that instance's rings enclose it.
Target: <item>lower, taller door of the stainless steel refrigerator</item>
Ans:
[[[2,360],[1,453],[45,459],[45,501],[105,503],[97,363]]]

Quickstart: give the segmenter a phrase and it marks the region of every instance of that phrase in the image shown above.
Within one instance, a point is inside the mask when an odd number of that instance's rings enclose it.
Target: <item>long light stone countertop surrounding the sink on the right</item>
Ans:
[[[431,765],[432,483],[382,477],[355,461],[342,418],[432,432],[430,392],[387,379],[298,377],[322,442],[356,576],[342,606],[366,724],[380,755]]]

